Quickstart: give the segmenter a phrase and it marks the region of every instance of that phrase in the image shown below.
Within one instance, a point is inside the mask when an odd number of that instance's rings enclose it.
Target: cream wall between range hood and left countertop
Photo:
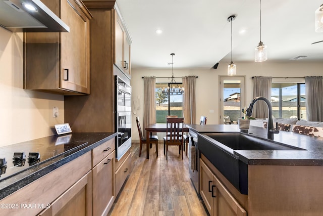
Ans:
[[[23,90],[22,36],[0,27],[0,146],[50,136],[50,127],[64,123],[64,96]]]

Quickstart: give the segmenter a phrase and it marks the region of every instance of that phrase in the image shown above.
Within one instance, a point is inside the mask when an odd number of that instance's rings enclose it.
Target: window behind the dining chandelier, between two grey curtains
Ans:
[[[170,83],[156,83],[156,122],[166,123],[167,115],[183,117],[183,95],[166,96],[161,93]],[[178,85],[182,83],[177,82]]]

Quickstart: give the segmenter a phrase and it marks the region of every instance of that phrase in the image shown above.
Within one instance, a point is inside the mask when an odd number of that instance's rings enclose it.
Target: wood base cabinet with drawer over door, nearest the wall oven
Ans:
[[[106,215],[116,198],[115,139],[92,150],[92,164],[92,212],[93,215]]]

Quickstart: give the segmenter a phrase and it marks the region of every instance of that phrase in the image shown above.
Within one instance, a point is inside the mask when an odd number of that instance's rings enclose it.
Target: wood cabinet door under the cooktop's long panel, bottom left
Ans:
[[[92,215],[92,173],[65,191],[38,215]]]

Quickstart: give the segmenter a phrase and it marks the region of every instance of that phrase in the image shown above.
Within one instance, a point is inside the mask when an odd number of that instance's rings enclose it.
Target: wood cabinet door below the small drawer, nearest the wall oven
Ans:
[[[115,151],[103,158],[92,169],[93,215],[106,215],[116,198],[115,195]],[[77,215],[77,214],[76,214]]]

